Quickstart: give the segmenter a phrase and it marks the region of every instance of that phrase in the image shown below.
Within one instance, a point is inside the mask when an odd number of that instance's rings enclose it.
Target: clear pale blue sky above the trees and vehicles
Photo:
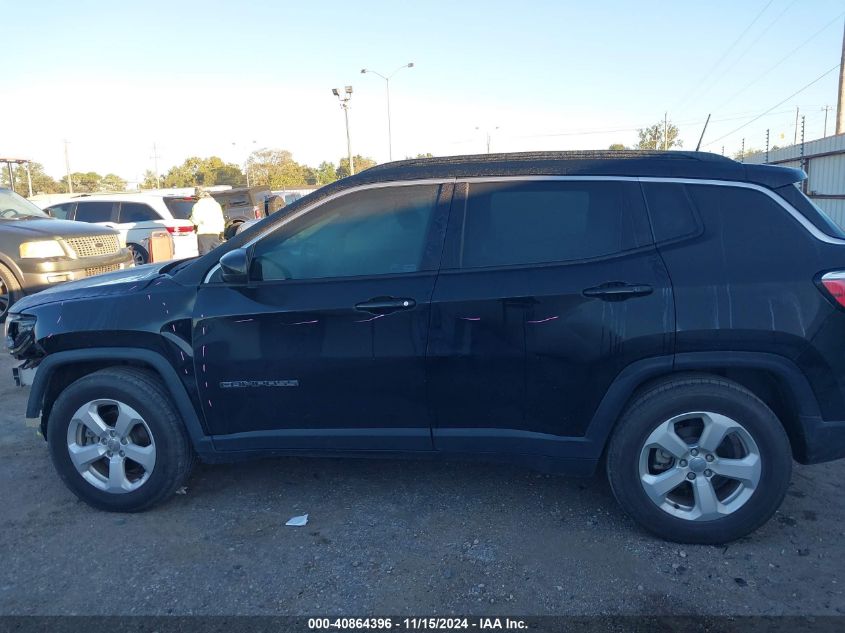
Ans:
[[[708,151],[733,154],[743,138],[762,148],[767,129],[791,144],[796,107],[806,139],[819,138],[826,105],[835,127],[845,0],[0,0],[0,11],[0,156],[59,178],[67,147],[72,171],[134,183],[154,155],[162,174],[261,148],[336,163],[346,134],[331,89],[345,85],[353,153],[385,162],[385,82],[360,71],[408,62],[390,81],[394,159],[482,153],[488,135],[494,152],[633,145],[664,113],[688,149],[708,113]]]

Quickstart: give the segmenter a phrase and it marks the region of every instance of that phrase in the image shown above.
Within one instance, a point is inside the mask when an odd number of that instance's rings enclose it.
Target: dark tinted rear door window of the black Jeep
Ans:
[[[627,182],[470,184],[458,266],[479,268],[611,255],[650,239]]]

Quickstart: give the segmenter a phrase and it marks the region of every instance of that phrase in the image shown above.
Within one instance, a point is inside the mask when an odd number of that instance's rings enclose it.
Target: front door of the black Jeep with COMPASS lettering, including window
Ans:
[[[251,247],[248,285],[200,289],[195,365],[219,448],[431,449],[425,350],[451,190],[329,200]]]

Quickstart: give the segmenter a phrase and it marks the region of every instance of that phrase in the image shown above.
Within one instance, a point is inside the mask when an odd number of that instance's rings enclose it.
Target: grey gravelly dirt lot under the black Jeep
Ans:
[[[414,461],[200,466],[144,514],[59,482],[0,357],[0,614],[845,613],[845,461],[729,547],[661,542],[602,477]],[[285,527],[310,515],[306,527]]]

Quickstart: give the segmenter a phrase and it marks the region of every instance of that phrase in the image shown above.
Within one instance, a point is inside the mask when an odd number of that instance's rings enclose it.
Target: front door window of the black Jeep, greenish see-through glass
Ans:
[[[322,205],[258,242],[257,279],[318,279],[420,270],[439,187],[384,187]]]

